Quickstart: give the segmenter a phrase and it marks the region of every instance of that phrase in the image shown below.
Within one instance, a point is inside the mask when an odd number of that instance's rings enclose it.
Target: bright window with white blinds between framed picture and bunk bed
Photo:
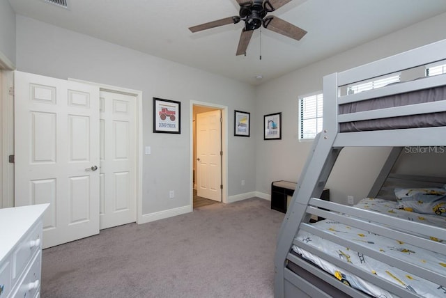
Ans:
[[[314,139],[322,130],[323,94],[299,98],[299,140]]]

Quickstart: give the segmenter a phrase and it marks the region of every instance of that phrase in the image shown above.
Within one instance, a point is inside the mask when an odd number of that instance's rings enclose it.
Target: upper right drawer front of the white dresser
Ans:
[[[12,260],[12,279],[13,283],[17,281],[31,258],[40,251],[42,246],[42,222],[34,226],[29,233],[26,233],[22,241],[17,245],[13,252]]]

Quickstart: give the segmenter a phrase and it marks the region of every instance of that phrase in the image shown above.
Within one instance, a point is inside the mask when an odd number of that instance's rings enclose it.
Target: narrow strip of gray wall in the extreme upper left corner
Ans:
[[[0,53],[15,64],[15,13],[8,0],[0,0]]]

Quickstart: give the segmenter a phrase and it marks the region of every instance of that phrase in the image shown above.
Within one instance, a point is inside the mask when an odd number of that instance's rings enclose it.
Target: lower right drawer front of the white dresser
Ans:
[[[40,263],[42,260],[40,251],[34,256],[28,271],[20,279],[15,288],[17,291],[11,296],[14,298],[38,297],[40,293]]]

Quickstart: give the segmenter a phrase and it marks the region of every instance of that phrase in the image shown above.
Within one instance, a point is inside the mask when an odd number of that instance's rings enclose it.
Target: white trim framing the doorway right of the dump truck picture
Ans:
[[[228,107],[222,106],[220,104],[213,104],[210,102],[199,102],[196,100],[190,101],[190,209],[194,209],[194,187],[193,187],[193,174],[192,170],[194,168],[194,125],[192,121],[194,120],[194,106],[200,107],[210,107],[222,110],[222,150],[223,150],[223,160],[222,160],[222,203],[229,203],[228,201]]]

